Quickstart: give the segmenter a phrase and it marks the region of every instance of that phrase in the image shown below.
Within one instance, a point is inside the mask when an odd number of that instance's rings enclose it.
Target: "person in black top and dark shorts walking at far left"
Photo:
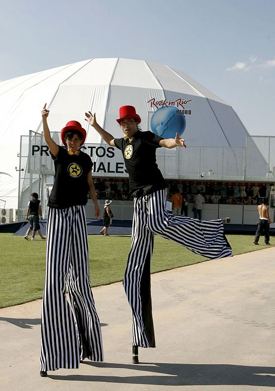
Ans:
[[[42,240],[45,240],[46,238],[43,237],[41,230],[40,230],[40,224],[39,224],[39,216],[41,219],[42,217],[42,210],[40,206],[40,199],[38,199],[38,194],[37,193],[32,193],[31,194],[31,200],[28,203],[28,209],[27,209],[27,214],[26,214],[26,220],[29,220],[30,226],[27,229],[27,232],[24,235],[24,239],[28,240],[28,235],[32,231],[32,239],[31,240],[37,240],[35,239],[35,234],[36,231],[38,232],[40,238]]]

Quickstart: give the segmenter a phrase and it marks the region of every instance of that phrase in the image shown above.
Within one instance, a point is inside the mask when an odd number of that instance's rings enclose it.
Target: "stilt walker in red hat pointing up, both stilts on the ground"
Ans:
[[[92,180],[91,158],[80,151],[86,130],[69,121],[61,130],[66,149],[52,139],[42,109],[45,141],[55,165],[55,181],[48,198],[46,276],[42,300],[42,377],[48,370],[79,368],[85,357],[103,361],[102,336],[89,277],[85,205],[89,193],[100,209]],[[71,307],[66,300],[66,288]]]

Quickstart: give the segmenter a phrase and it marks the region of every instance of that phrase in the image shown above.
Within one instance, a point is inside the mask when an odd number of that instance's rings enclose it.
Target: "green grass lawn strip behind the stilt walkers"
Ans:
[[[233,254],[260,250],[251,235],[227,235]],[[123,279],[131,237],[89,235],[89,259],[92,286],[105,285]],[[271,242],[274,242],[271,238]],[[260,238],[260,243],[264,239]],[[42,298],[45,278],[45,241],[32,242],[21,236],[0,234],[0,307],[26,303]],[[151,272],[169,270],[207,261],[159,236],[155,237]]]

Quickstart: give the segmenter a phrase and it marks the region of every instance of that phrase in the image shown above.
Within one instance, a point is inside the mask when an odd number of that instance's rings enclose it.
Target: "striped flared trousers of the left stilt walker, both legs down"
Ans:
[[[71,306],[66,300],[66,286]],[[89,277],[85,207],[50,208],[42,301],[41,370],[103,361],[101,328]]]

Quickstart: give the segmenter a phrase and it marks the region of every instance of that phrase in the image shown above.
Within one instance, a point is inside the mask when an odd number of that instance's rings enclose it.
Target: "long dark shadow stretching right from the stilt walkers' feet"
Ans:
[[[150,372],[143,375],[129,376],[93,376],[93,375],[53,375],[54,380],[73,380],[87,382],[108,382],[124,384],[147,384],[162,386],[185,385],[246,385],[275,386],[275,368],[253,367],[228,364],[168,364],[141,363],[139,365],[96,363],[84,361],[83,364],[97,368],[131,369],[140,372]]]

